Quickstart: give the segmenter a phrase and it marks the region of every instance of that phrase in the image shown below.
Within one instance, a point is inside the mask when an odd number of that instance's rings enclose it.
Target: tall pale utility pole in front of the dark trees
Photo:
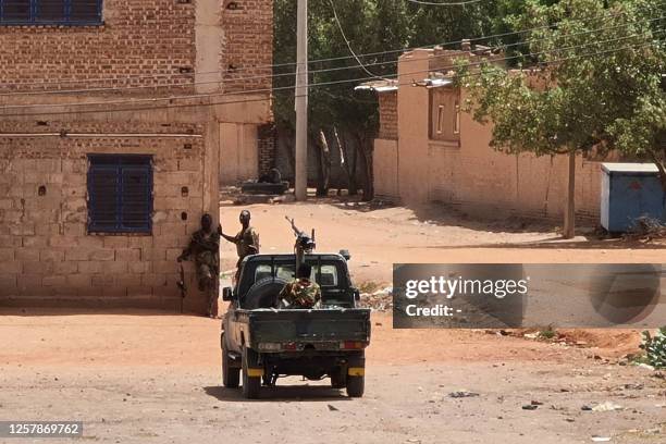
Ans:
[[[296,200],[308,198],[308,0],[298,0],[296,55]]]

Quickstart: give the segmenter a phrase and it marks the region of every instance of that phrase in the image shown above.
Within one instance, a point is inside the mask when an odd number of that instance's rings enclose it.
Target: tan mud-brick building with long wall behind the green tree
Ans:
[[[374,140],[374,192],[405,205],[444,202],[481,217],[515,214],[559,220],[567,196],[568,157],[505,155],[490,146],[492,123],[465,112],[465,88],[454,86],[454,60],[474,62],[486,48],[419,49],[398,61],[398,78],[358,89],[379,95],[380,131]],[[415,78],[415,73],[420,77]],[[577,218],[599,220],[601,163],[576,161]]]

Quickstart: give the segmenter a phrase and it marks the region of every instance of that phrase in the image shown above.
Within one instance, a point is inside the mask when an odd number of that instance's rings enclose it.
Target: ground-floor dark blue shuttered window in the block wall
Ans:
[[[150,233],[152,158],[90,155],[88,232]]]

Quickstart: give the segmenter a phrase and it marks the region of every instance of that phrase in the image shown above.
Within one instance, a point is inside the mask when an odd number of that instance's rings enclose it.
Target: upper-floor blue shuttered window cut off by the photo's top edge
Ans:
[[[102,0],[0,0],[0,25],[98,25]]]

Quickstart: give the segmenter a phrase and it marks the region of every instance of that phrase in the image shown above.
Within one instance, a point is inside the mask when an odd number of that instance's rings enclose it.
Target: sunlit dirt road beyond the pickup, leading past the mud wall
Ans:
[[[526,225],[519,220],[473,221],[443,207],[373,208],[368,203],[322,199],[308,203],[231,203],[221,208],[223,229],[235,233],[238,212],[249,209],[262,252],[291,251],[294,237],[284,217],[304,231],[316,229],[319,251],[351,252],[357,283],[388,283],[393,263],[603,263],[666,261],[664,244],[629,244],[622,239],[563,240],[555,226]],[[235,247],[223,243],[225,270],[235,266]]]

